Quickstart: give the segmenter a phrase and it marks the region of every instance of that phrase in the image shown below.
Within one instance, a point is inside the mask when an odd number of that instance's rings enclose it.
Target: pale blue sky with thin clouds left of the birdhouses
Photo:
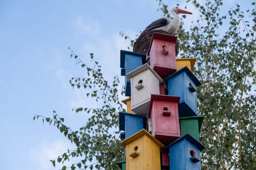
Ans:
[[[233,0],[226,3],[234,6]],[[198,18],[190,6],[194,15],[187,21]],[[34,114],[50,117],[56,110],[74,129],[87,119],[72,112],[88,100],[84,90],[69,85],[85,71],[70,59],[68,47],[84,61],[95,53],[111,80],[120,73],[119,51],[129,44],[119,32],[139,34],[161,17],[157,8],[156,0],[0,1],[1,170],[54,170],[49,160],[73,145],[55,127],[34,121]]]

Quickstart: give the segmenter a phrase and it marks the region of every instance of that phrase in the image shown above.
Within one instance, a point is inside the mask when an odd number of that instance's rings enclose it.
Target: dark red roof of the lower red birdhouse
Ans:
[[[151,109],[154,101],[177,102],[177,104],[179,104],[179,98],[180,98],[179,96],[152,94],[150,99],[150,104],[149,104],[148,117],[149,118],[151,117]]]

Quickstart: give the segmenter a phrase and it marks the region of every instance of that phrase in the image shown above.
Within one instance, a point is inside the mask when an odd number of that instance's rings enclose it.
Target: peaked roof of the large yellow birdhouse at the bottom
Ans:
[[[142,129],[142,130],[138,131],[136,134],[134,134],[133,136],[130,136],[127,139],[123,140],[121,142],[121,145],[125,147],[129,143],[137,140],[138,138],[140,138],[144,135],[148,136],[151,140],[153,140],[160,148],[164,147],[164,145],[158,139],[156,139],[154,136],[152,136],[150,133],[148,133],[148,131],[146,131],[145,129]]]

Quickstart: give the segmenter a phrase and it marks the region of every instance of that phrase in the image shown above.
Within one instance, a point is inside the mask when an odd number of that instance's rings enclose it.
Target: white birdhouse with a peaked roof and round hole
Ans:
[[[148,64],[126,74],[131,80],[131,109],[136,114],[148,115],[151,94],[159,94],[161,77]]]

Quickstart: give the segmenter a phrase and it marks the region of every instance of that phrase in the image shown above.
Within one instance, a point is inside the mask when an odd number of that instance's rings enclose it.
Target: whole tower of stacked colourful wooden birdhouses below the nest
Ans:
[[[119,112],[121,170],[200,170],[195,58],[176,59],[176,36],[154,33],[147,55],[120,52],[127,112]]]

